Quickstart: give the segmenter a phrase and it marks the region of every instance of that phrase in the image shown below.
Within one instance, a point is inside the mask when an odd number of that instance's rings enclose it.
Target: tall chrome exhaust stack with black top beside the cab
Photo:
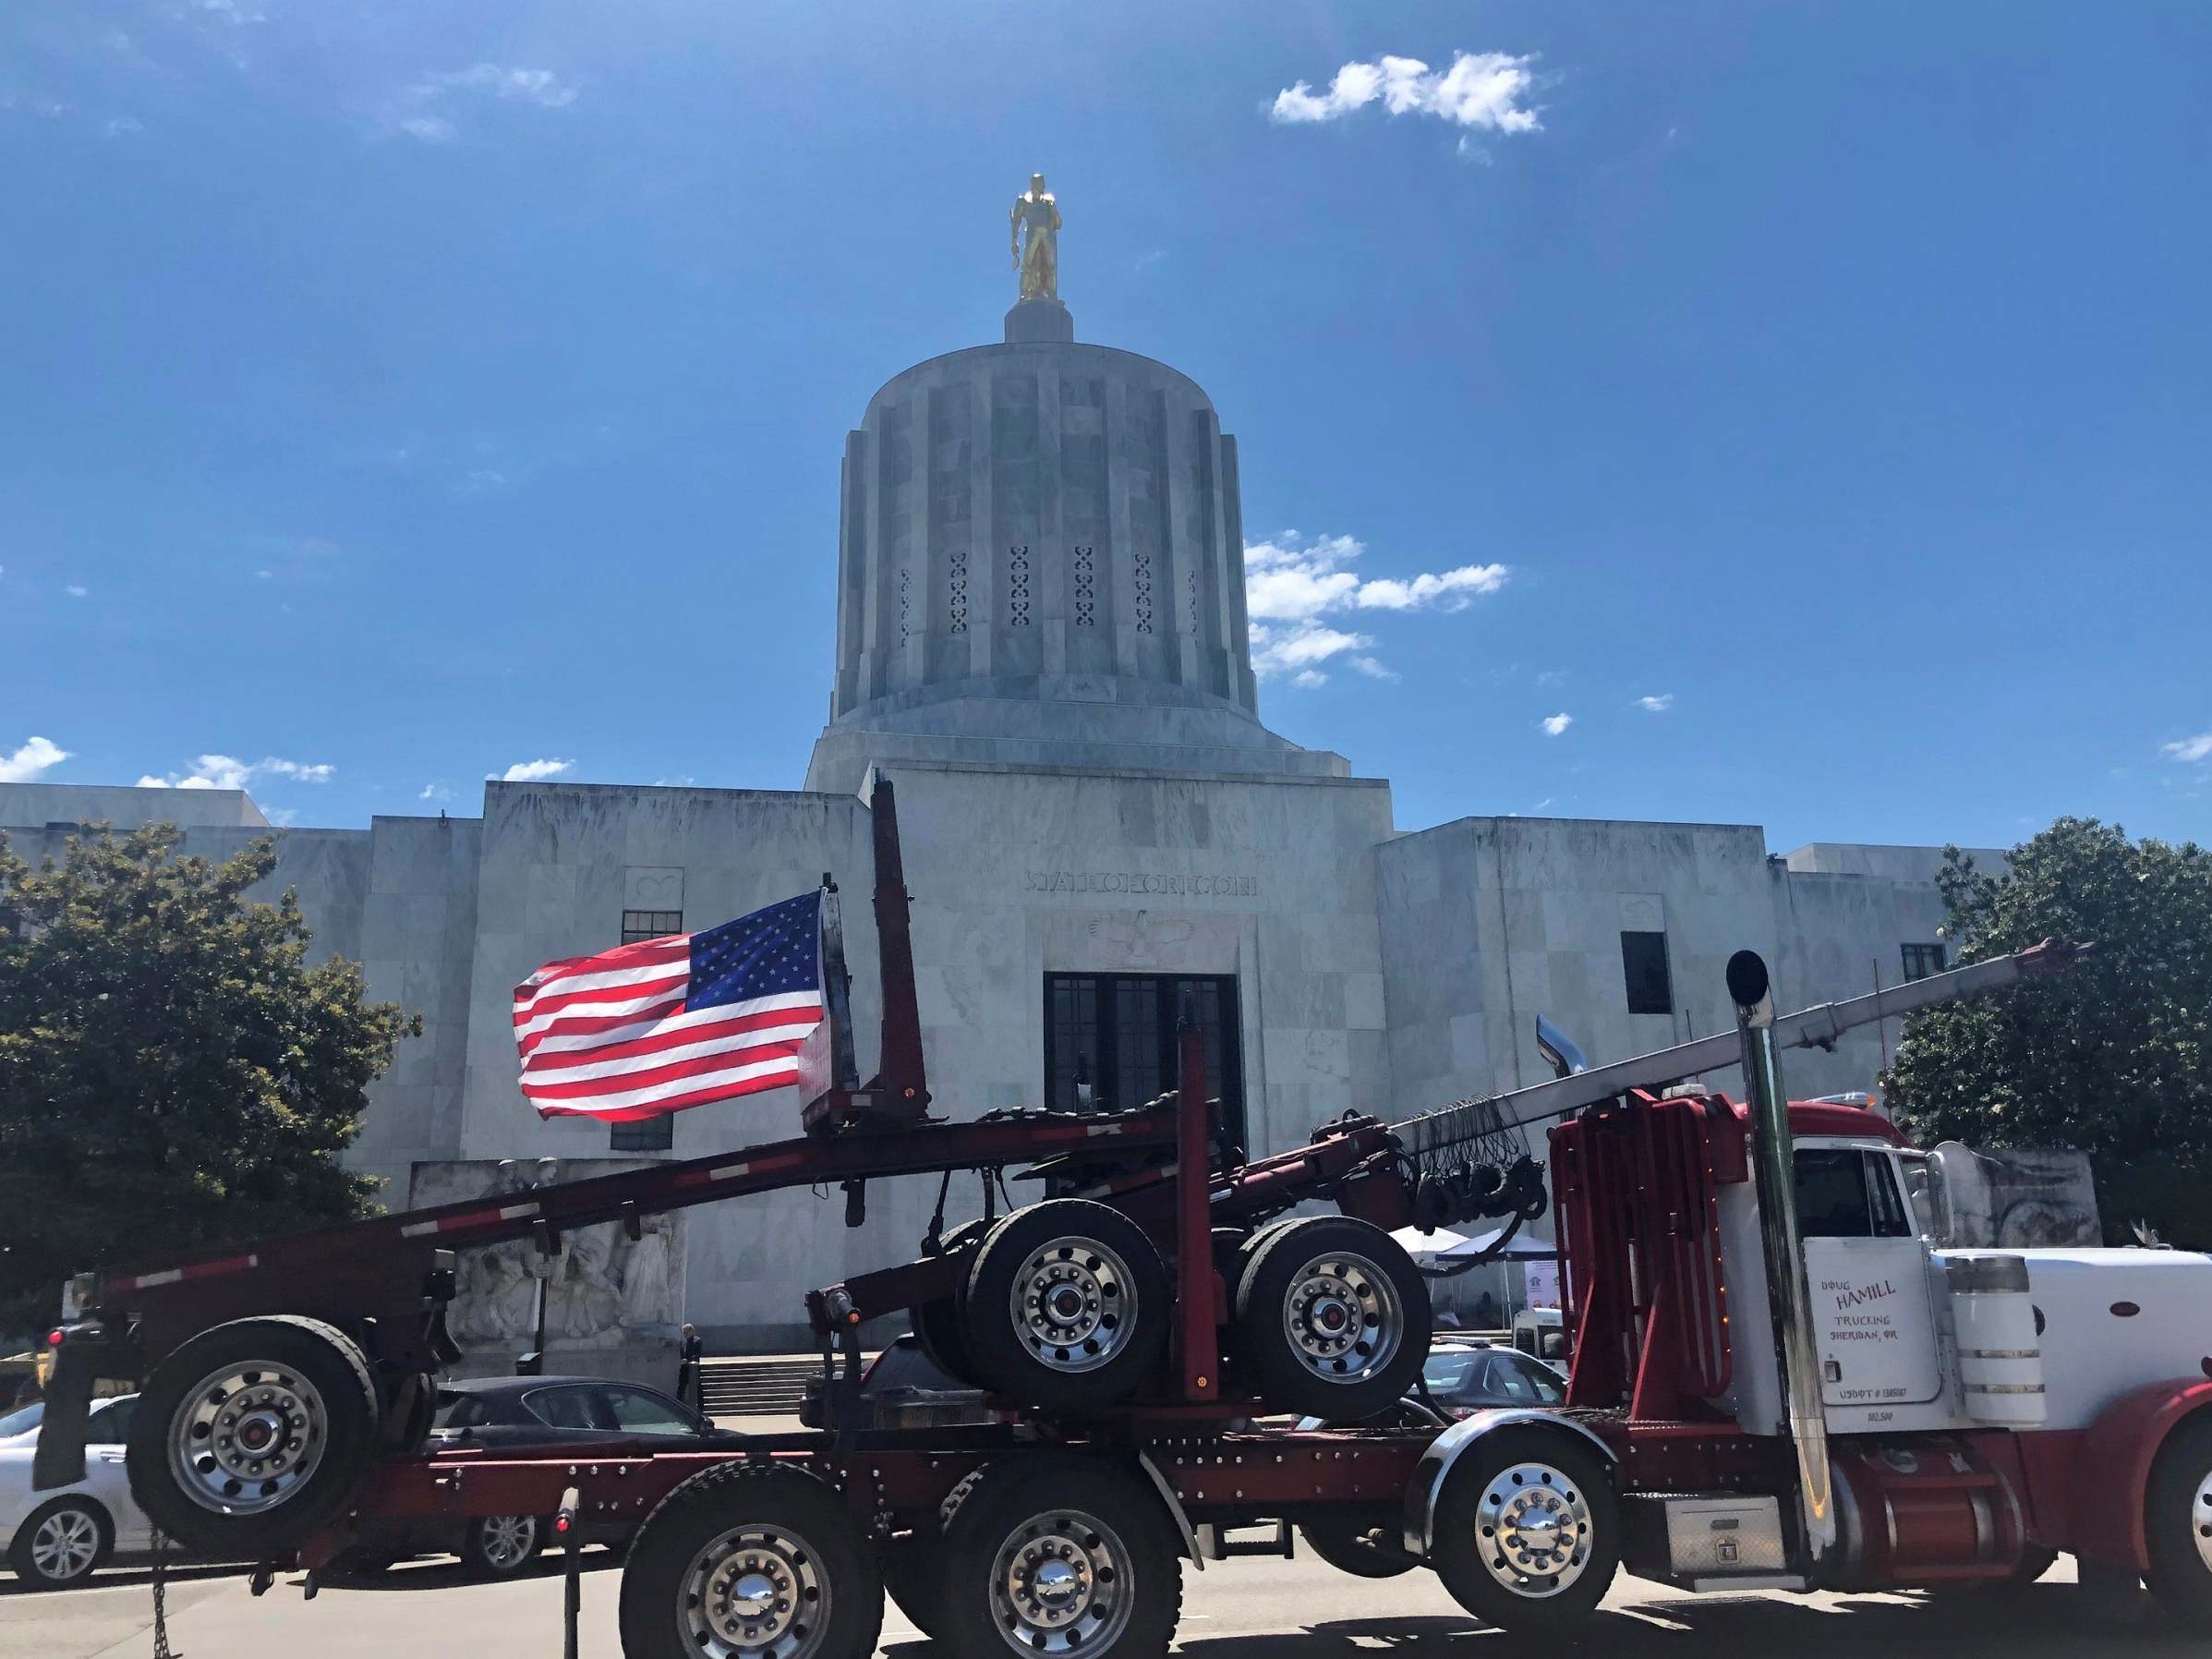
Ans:
[[[1774,1356],[1783,1371],[1783,1416],[1796,1449],[1798,1509],[1805,1522],[1805,1582],[1818,1586],[1836,1555],[1836,1478],[1827,1460],[1827,1409],[1820,1402],[1820,1352],[1812,1334],[1812,1285],[1796,1217],[1796,1146],[1790,1091],[1774,1042],[1774,987],[1756,951],[1728,958],[1728,995],[1743,1044],[1743,1097],[1752,1113],[1752,1170],[1759,1190],[1759,1243],[1767,1265]]]

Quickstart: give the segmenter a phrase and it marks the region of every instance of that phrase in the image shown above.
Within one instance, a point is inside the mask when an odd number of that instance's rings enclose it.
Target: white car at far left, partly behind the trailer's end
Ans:
[[[0,1540],[27,1586],[62,1590],[91,1579],[115,1551],[153,1548],[153,1526],[131,1498],[124,1473],[124,1436],[135,1394],[93,1400],[84,1427],[84,1480],[75,1486],[31,1491],[42,1407],[27,1405],[0,1418]]]

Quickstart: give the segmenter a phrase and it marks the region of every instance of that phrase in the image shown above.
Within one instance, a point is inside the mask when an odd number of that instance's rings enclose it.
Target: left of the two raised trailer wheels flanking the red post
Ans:
[[[1018,1285],[1024,1323],[1015,1321]],[[1046,1199],[991,1228],[960,1314],[987,1387],[1084,1411],[1126,1400],[1159,1365],[1172,1298],[1144,1228],[1104,1203]]]

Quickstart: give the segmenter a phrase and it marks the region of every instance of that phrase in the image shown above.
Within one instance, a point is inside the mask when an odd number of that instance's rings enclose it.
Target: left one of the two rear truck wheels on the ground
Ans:
[[[626,1659],[867,1659],[880,1630],[874,1551],[838,1495],[796,1469],[692,1475],[622,1564]]]

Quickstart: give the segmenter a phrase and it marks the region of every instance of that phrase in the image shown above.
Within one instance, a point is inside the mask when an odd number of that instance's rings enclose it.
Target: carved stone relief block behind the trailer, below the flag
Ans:
[[[624,1159],[575,1159],[564,1179],[635,1168]],[[507,1197],[526,1186],[520,1168],[489,1161],[418,1164],[411,1206]],[[460,1252],[460,1294],[447,1329],[469,1352],[522,1352],[538,1336],[538,1276],[546,1279],[546,1347],[613,1349],[672,1343],[684,1318],[684,1219],[646,1217],[633,1241],[619,1225],[580,1228],[542,1259],[529,1239]]]

